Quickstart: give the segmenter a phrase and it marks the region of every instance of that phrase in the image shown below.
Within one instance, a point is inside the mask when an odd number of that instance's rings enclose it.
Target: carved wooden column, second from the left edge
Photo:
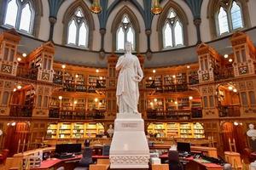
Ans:
[[[55,47],[52,42],[45,42],[28,55],[29,69],[36,74],[39,81],[35,87],[36,104],[32,116],[49,116],[49,96],[53,88],[53,60]]]

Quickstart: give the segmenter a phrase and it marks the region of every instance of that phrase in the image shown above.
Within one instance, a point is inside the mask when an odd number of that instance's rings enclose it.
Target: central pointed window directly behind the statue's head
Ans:
[[[132,49],[135,49],[135,31],[127,15],[124,15],[123,20],[119,24],[116,37],[116,50],[125,50],[125,42],[131,42]]]

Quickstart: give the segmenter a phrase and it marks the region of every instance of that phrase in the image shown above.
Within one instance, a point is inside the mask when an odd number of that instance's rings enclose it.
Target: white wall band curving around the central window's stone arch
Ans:
[[[111,32],[111,27],[114,18],[118,14],[119,10],[123,8],[124,6],[127,6],[128,8],[131,8],[132,12],[137,16],[138,23],[140,24],[140,34],[139,34],[139,51],[140,53],[147,51],[147,37],[145,34],[145,25],[143,21],[142,15],[139,13],[137,8],[134,7],[134,5],[130,2],[122,2],[119,3],[116,8],[113,9],[111,14],[108,17],[107,26],[106,26],[106,35],[105,35],[105,51],[112,52],[113,51],[113,32]]]

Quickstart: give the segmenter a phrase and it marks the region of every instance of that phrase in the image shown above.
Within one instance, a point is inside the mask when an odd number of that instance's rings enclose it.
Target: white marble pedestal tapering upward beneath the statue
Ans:
[[[148,168],[149,148],[141,114],[117,114],[109,158],[110,168]]]

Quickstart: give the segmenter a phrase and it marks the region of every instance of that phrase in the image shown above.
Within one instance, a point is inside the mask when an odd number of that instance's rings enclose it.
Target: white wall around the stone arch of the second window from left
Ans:
[[[63,17],[67,8],[73,3],[72,0],[64,1],[62,3],[61,8],[57,14],[57,22],[55,23],[55,30],[54,30],[54,42],[58,44],[62,44],[62,36],[64,31],[64,25],[62,23]],[[89,0],[85,1],[86,5],[90,8]],[[96,14],[92,14],[94,20],[95,30],[93,31],[93,42],[92,42],[92,50],[99,50],[101,48],[101,34],[100,34],[100,23],[98,16]]]

